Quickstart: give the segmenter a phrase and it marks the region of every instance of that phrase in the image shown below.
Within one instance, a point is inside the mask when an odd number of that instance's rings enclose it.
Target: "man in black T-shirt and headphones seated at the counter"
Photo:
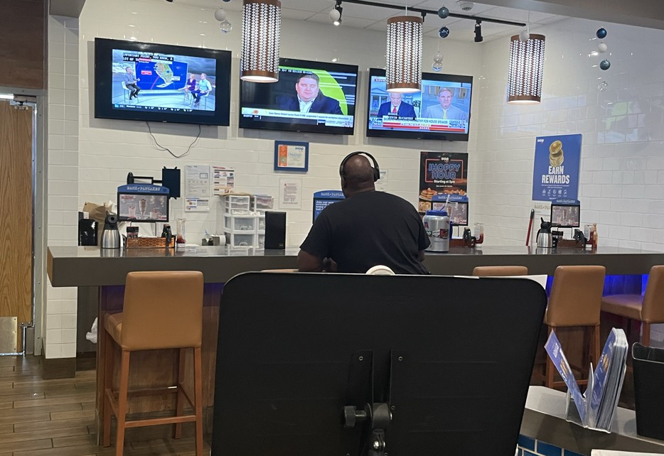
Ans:
[[[383,265],[397,274],[428,274],[422,261],[429,237],[422,219],[406,200],[375,190],[380,177],[375,158],[350,153],[339,174],[346,199],[326,207],[314,221],[300,246],[299,271],[365,273]]]

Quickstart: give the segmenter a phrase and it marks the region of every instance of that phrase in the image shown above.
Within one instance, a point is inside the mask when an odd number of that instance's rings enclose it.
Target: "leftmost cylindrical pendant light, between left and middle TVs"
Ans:
[[[281,28],[282,3],[279,0],[242,1],[240,79],[250,82],[279,80]]]

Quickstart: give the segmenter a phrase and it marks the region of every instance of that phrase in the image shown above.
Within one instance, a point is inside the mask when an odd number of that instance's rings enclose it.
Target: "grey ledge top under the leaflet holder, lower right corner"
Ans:
[[[530,386],[521,434],[582,455],[590,455],[592,449],[664,453],[664,441],[636,434],[633,410],[619,407],[615,427],[609,434],[566,421],[565,401],[562,391]]]

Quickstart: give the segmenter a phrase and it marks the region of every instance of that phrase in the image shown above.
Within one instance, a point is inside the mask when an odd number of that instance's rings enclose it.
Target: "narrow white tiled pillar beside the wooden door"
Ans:
[[[78,19],[48,18],[48,245],[75,246],[78,220]],[[76,355],[76,288],[46,288],[47,358]]]

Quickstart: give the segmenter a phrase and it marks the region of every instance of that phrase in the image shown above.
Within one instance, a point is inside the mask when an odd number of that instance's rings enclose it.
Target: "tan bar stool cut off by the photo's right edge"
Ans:
[[[641,344],[650,344],[650,325],[664,323],[664,266],[653,266],[645,295],[608,295],[601,299],[601,311],[641,322]]]

